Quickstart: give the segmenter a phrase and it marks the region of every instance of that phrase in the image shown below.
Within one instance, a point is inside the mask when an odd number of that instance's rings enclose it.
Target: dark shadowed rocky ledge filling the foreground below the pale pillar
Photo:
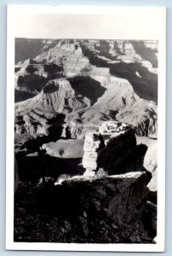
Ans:
[[[20,183],[14,241],[152,243],[156,227],[150,230],[152,211],[146,205],[150,178],[150,172],[130,172],[72,177],[57,186],[52,180]]]

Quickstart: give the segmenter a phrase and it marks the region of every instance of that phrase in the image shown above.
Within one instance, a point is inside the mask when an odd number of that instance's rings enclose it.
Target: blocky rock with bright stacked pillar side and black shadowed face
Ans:
[[[85,176],[100,168],[108,174],[143,171],[146,145],[136,144],[135,129],[118,121],[106,121],[99,131],[87,132],[83,146]]]

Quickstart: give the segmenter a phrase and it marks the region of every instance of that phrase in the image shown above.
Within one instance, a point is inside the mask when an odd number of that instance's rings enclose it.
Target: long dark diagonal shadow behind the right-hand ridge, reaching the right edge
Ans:
[[[89,58],[96,67],[109,67],[110,73],[120,79],[127,79],[132,84],[135,93],[147,101],[158,102],[158,75],[148,71],[139,62],[107,63],[82,44],[83,55]],[[137,75],[140,74],[140,77]]]

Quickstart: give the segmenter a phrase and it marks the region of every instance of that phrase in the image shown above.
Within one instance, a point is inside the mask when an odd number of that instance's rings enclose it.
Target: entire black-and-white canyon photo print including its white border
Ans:
[[[163,251],[164,9],[38,9],[9,12],[9,248]]]

